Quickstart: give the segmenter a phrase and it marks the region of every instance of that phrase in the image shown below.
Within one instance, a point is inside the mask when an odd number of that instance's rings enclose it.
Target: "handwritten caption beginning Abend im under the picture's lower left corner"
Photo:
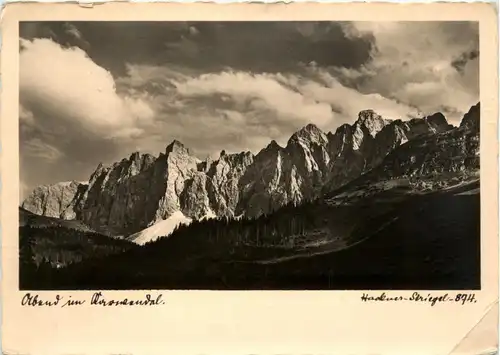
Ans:
[[[117,307],[117,306],[161,306],[165,301],[162,294],[151,295],[145,294],[140,298],[123,297],[120,299],[107,298],[102,292],[95,292],[88,298],[76,298],[73,296],[61,296],[59,294],[50,298],[26,293],[21,299],[21,305],[24,307],[75,307],[83,305],[91,305],[97,307]]]

